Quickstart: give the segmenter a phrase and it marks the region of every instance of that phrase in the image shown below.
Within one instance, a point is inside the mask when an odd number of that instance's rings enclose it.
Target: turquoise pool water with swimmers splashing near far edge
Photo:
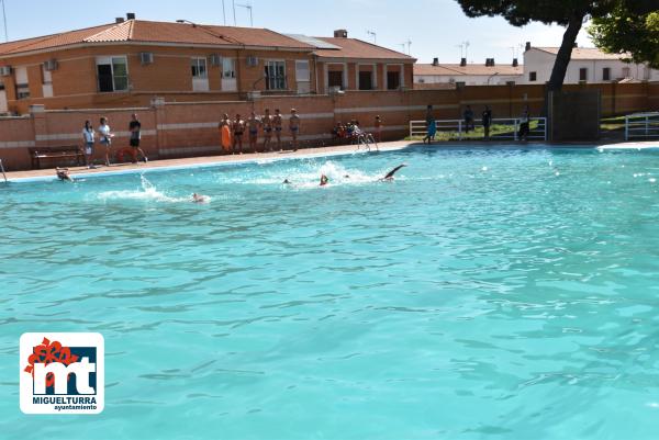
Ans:
[[[656,438],[656,179],[409,148],[0,185],[0,438]],[[21,414],[25,331],[104,336],[101,415]]]

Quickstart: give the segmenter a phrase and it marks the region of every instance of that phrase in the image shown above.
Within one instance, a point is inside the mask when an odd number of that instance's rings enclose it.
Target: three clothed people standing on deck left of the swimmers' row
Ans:
[[[129,123],[129,145],[131,147],[133,161],[137,161],[138,155],[142,156],[142,160],[144,160],[145,162],[148,161],[148,158],[139,147],[139,140],[142,139],[142,123],[139,122],[139,120],[137,119],[137,114],[135,113],[131,115],[131,122]],[[112,138],[114,137],[114,133],[112,133],[112,129],[110,128],[108,117],[101,117],[98,134],[99,143],[104,148],[105,153],[105,166],[110,167]],[[85,144],[83,153],[87,168],[96,168],[96,166],[93,165],[93,151],[97,139],[96,135],[97,132],[93,129],[91,122],[89,120],[85,121],[85,127],[82,128],[82,142]]]

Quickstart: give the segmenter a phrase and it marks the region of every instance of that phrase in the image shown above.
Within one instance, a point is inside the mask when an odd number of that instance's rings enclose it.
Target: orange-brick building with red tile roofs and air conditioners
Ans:
[[[0,44],[0,113],[399,90],[415,59],[367,42],[126,19]]]

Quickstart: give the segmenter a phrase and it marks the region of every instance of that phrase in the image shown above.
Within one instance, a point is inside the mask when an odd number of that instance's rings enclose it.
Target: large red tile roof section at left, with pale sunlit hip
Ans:
[[[123,23],[103,24],[78,31],[0,44],[0,56],[79,44],[93,45],[116,42],[281,47],[309,52],[315,48],[314,46],[267,29],[129,20]]]

